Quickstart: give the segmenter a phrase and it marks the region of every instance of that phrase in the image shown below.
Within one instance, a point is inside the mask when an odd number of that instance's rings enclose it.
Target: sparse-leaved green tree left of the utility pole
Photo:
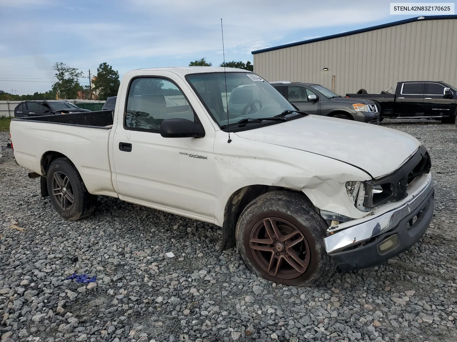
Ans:
[[[55,76],[58,81],[53,84],[52,91],[59,93],[59,97],[63,99],[74,98],[78,91],[82,90],[79,78],[83,76],[83,73],[62,62],[56,62],[53,69],[56,71]]]

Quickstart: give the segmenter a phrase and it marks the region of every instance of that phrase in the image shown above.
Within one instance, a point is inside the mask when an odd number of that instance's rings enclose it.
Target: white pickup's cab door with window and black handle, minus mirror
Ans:
[[[214,136],[164,138],[159,133],[164,119],[200,122],[181,89],[166,78],[134,78],[127,103],[118,106],[125,106],[117,109],[124,117],[112,140],[119,198],[214,220]]]

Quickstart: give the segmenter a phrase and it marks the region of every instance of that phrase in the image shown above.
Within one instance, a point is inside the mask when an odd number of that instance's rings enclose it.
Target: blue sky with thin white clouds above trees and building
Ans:
[[[430,2],[430,0],[429,0]],[[122,74],[206,57],[252,61],[251,51],[399,21],[390,1],[0,0],[0,90],[44,92],[54,62],[87,75],[107,62]],[[81,79],[88,84],[88,79]]]

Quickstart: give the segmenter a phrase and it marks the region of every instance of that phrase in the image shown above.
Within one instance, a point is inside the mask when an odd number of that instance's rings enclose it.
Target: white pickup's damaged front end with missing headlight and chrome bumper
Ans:
[[[415,244],[433,214],[430,155],[424,146],[387,176],[346,183],[354,206],[370,212],[352,219],[321,210],[327,221],[325,248],[343,269],[360,269],[392,258]]]

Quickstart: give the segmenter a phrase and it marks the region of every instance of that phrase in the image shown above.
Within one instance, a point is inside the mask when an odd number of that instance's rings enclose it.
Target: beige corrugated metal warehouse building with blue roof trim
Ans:
[[[379,93],[400,81],[457,86],[457,15],[420,16],[253,51],[272,81],[319,83],[336,93]]]

